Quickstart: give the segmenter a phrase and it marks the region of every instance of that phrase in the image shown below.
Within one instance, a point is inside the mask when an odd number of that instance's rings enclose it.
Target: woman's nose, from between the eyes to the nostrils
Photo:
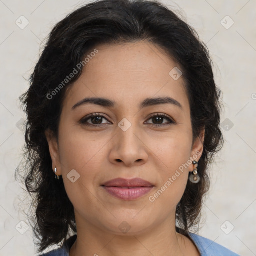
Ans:
[[[139,131],[132,124],[126,131],[117,127],[115,136],[112,138],[109,158],[114,164],[125,166],[142,165],[148,159],[146,138],[143,132]]]

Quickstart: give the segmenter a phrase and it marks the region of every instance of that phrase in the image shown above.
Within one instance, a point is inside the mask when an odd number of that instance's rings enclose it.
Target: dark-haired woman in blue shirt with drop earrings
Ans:
[[[188,24],[156,1],[89,3],[53,28],[30,81],[38,252],[237,255],[191,232],[223,138],[208,50]]]

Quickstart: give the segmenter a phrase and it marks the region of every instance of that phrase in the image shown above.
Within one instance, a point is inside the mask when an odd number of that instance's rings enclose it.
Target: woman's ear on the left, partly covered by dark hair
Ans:
[[[49,129],[45,131],[45,136],[49,145],[49,152],[52,161],[52,170],[57,168],[57,172],[54,174],[61,175],[61,165],[60,165],[60,158],[59,158],[59,150],[58,150],[58,142],[56,136],[53,132]]]

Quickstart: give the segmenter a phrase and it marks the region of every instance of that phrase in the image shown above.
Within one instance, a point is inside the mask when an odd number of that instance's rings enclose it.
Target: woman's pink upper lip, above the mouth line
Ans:
[[[115,178],[105,182],[102,186],[116,186],[116,187],[152,187],[154,186],[150,182],[141,179],[141,178],[132,178],[132,179],[125,179],[125,178]]]

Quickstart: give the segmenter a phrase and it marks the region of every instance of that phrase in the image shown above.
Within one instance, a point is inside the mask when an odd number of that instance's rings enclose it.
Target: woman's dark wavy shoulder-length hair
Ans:
[[[99,0],[76,9],[54,26],[30,76],[30,87],[20,96],[27,115],[24,174],[20,176],[35,207],[30,219],[39,240],[38,252],[63,243],[69,232],[76,232],[74,208],[62,176],[57,180],[52,171],[45,130],[51,130],[58,138],[65,91],[80,76],[82,68],[52,100],[48,95],[53,95],[52,91],[97,45],[142,40],[162,49],[179,64],[190,104],[193,139],[205,129],[198,162],[201,179],[197,184],[187,182],[176,207],[176,230],[186,235],[199,223],[203,195],[209,189],[208,164],[223,145],[219,128],[221,91],[214,81],[208,48],[191,26],[158,1]]]

